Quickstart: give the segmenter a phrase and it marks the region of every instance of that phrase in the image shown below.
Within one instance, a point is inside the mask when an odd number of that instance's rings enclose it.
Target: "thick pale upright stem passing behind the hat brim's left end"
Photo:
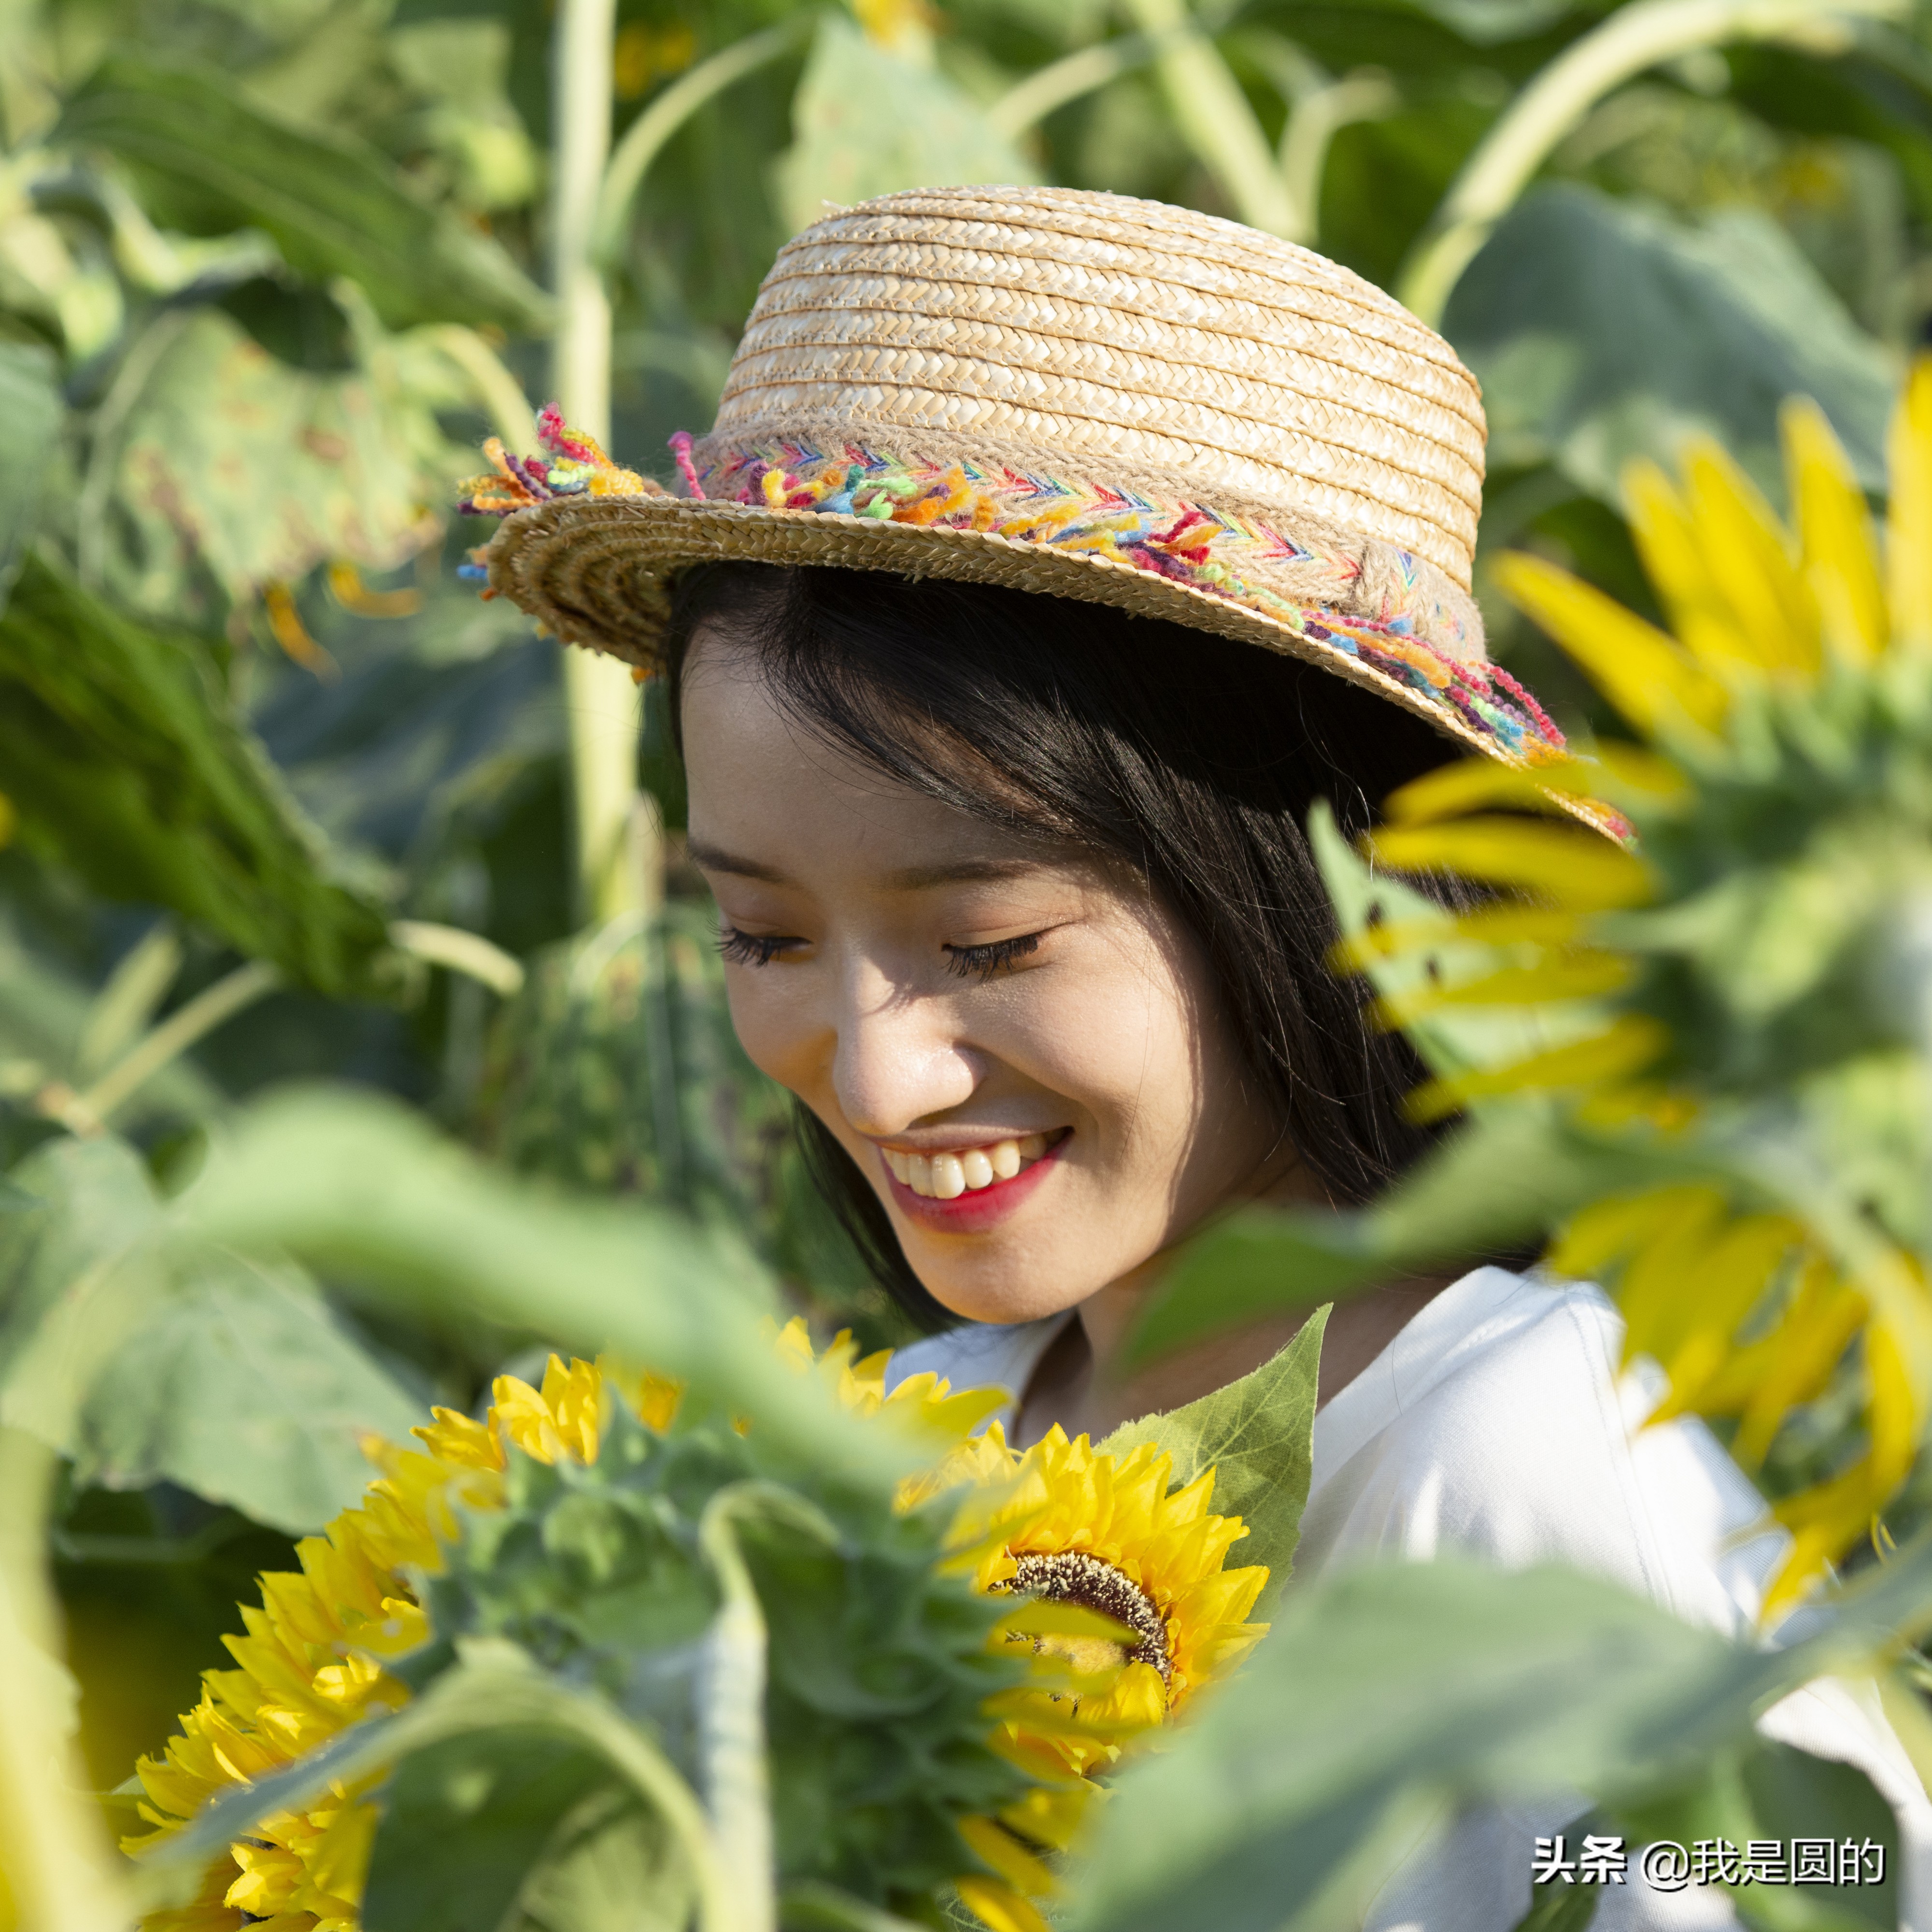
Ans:
[[[616,0],[558,0],[551,156],[551,247],[556,336],[551,388],[564,419],[611,437],[611,294],[591,253],[597,197],[611,156],[611,39]],[[638,792],[638,686],[630,667],[595,651],[564,651],[570,715],[570,802],[576,881],[585,920],[632,910],[641,885],[630,864]]]

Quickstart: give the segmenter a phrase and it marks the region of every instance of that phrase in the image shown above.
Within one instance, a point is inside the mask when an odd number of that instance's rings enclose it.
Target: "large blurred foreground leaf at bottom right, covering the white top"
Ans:
[[[1911,1571],[1922,1600],[1924,1563]],[[1072,1924],[1358,1922],[1428,1816],[1702,1789],[1721,1752],[1754,1748],[1760,1710],[1878,1642],[1845,1629],[1768,1654],[1559,1569],[1387,1563],[1300,1584],[1238,1683],[1121,1777]]]

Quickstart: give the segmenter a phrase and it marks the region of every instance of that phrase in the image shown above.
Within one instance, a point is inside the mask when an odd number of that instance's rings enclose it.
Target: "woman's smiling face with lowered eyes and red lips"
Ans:
[[[711,632],[682,723],[738,1037],[947,1308],[1057,1314],[1254,1179],[1273,1132],[1142,885],[829,748]]]

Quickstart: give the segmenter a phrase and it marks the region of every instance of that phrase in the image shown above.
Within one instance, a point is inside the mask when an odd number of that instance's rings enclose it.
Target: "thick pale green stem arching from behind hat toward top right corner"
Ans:
[[[1787,41],[1843,52],[1855,23],[1895,19],[1903,0],[1636,0],[1571,43],[1509,104],[1463,164],[1397,282],[1397,296],[1435,325],[1449,292],[1557,143],[1607,93],[1679,54],[1727,41]]]

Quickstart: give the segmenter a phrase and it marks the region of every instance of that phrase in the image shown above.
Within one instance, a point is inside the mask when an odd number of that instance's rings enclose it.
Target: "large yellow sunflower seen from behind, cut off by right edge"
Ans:
[[[1857,1372],[1862,1451],[1776,1507],[1768,1613],[1876,1522],[1932,1401],[1924,1010],[1932,908],[1932,363],[1891,435],[1889,527],[1808,402],[1783,412],[1795,527],[1716,444],[1681,481],[1627,477],[1669,630],[1536,556],[1499,587],[1634,740],[1538,767],[1453,765],[1387,802],[1370,854],[1503,898],[1364,927],[1345,960],[1383,1020],[1532,1018],[1532,1051],[1434,1055],[1422,1117],[1555,1109],[1656,1175],[1567,1204],[1551,1264],[1617,1287],[1658,1416],[1733,1418],[1762,1463],[1785,1418]],[[1634,831],[1613,842],[1596,825]],[[1443,970],[1455,960],[1455,970]],[[1414,968],[1426,966],[1426,972]],[[1406,972],[1405,972],[1406,968]],[[1580,1211],[1577,1211],[1580,1208]]]

